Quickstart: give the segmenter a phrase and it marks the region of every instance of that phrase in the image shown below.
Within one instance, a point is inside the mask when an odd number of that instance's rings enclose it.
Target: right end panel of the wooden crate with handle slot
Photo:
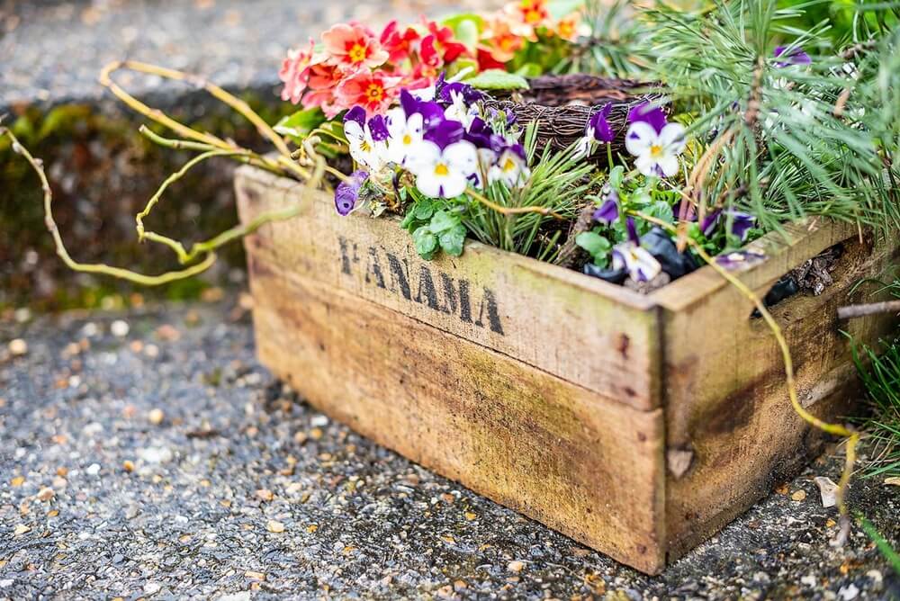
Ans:
[[[837,307],[860,299],[862,292],[851,298],[851,287],[878,274],[895,248],[873,250],[869,242],[860,243],[855,229],[835,224],[799,234],[790,243],[772,237],[761,241],[770,259],[741,277],[763,295],[791,268],[844,244],[835,282],[821,296],[800,295],[772,309],[791,348],[801,402],[816,415],[835,419],[851,413],[856,400],[850,342],[840,330],[874,343],[896,323],[889,315],[838,323]],[[682,463],[668,473],[671,557],[687,552],[791,476],[823,438],[790,407],[781,353],[770,329],[750,318],[750,301],[710,271],[654,295],[666,308],[667,446],[673,459],[691,458],[687,472],[679,475]]]

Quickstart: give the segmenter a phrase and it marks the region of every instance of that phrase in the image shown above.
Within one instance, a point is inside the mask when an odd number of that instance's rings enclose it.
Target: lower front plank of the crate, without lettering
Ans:
[[[312,404],[581,543],[662,570],[662,409],[602,399],[255,248],[259,356]]]

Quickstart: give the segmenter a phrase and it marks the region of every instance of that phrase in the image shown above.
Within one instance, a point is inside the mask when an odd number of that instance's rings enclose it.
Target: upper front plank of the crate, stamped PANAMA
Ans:
[[[423,261],[395,220],[341,218],[325,193],[239,171],[243,220],[295,202],[304,205],[300,217],[250,239],[257,256],[606,399],[661,406],[659,313],[644,296],[477,243],[467,243],[461,257]]]

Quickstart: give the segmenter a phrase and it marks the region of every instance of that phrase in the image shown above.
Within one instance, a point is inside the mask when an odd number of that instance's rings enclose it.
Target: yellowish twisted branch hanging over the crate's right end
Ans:
[[[663,220],[656,219],[651,215],[647,215],[641,211],[629,211],[634,214],[636,217],[640,217],[643,220],[647,220],[651,223],[654,223],[660,226],[663,229],[668,230],[669,232],[676,234],[678,233],[678,229]],[[847,493],[847,487],[850,483],[851,475],[853,473],[853,464],[856,462],[856,446],[860,442],[860,433],[855,432],[848,428],[847,426],[842,426],[841,424],[831,424],[829,422],[824,421],[819,417],[815,417],[812,413],[806,410],[806,408],[800,404],[800,400],[797,398],[797,381],[794,378],[794,360],[790,354],[790,347],[788,346],[788,340],[785,338],[784,333],[781,331],[781,327],[779,326],[779,322],[772,317],[772,314],[769,312],[769,309],[766,308],[765,303],[762,302],[760,297],[753,292],[747,284],[743,283],[737,276],[729,272],[725,267],[716,263],[716,260],[709,256],[706,250],[703,249],[702,246],[697,242],[697,240],[693,238],[686,238],[690,247],[694,249],[694,251],[698,254],[698,256],[704,260],[710,267],[712,267],[717,274],[721,275],[725,278],[725,281],[732,284],[738,292],[741,292],[744,297],[748,300],[752,301],[753,305],[756,307],[766,322],[766,325],[769,326],[772,331],[772,335],[775,336],[776,341],[778,341],[779,348],[781,350],[781,356],[784,360],[785,364],[785,380],[788,385],[788,398],[790,399],[791,407],[794,408],[794,411],[798,416],[803,418],[807,424],[810,426],[814,426],[819,430],[831,435],[836,436],[844,436],[847,438],[847,450],[844,457],[844,468],[841,473],[841,480],[838,482],[838,490],[837,490],[837,506],[838,511],[841,514],[841,534],[838,537],[838,541],[842,543],[846,540],[847,535],[850,533],[850,516],[847,511],[847,504],[845,501],[845,496]]]

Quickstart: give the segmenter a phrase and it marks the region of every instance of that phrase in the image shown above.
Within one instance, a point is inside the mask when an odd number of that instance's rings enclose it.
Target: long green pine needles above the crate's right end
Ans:
[[[896,162],[886,169],[890,153],[869,122],[883,102],[874,100],[879,84],[852,76],[874,65],[831,49],[825,24],[792,27],[801,8],[716,0],[701,12],[660,4],[646,13],[655,76],[669,85],[676,111],[687,112],[689,135],[709,149],[688,192],[707,206],[750,212],[763,229],[808,215],[900,226],[900,199],[888,184]],[[896,54],[893,37],[878,42],[879,59]],[[787,48],[776,58],[779,43]],[[787,64],[801,48],[822,52],[811,65]],[[896,111],[888,124],[896,127]]]

